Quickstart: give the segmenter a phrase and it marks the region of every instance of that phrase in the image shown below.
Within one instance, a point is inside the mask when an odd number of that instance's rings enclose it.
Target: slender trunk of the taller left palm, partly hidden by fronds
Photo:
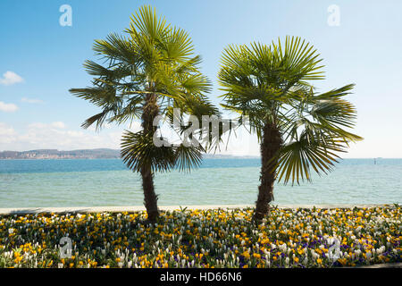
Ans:
[[[159,114],[159,106],[156,102],[156,96],[149,94],[146,97],[145,104],[143,105],[142,112],[142,128],[144,134],[153,135],[156,128],[153,126],[155,117]],[[155,194],[154,187],[154,174],[152,173],[151,165],[141,166],[142,177],[142,189],[144,190],[144,205],[147,208],[147,216],[149,222],[155,222],[159,216],[159,210],[157,206],[157,195]]]

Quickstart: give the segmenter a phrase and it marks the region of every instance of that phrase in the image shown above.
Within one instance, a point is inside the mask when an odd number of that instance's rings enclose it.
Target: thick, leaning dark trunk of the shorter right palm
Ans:
[[[272,123],[266,123],[261,142],[261,185],[258,187],[258,198],[255,202],[255,221],[261,221],[269,213],[269,203],[273,200],[273,183],[275,172],[273,167],[278,163],[277,152],[281,149],[280,130]]]

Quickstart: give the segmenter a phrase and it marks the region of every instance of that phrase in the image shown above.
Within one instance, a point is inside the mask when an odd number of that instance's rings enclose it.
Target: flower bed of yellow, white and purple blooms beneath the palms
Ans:
[[[0,216],[0,267],[333,267],[401,262],[400,206]],[[63,237],[72,242],[62,258]],[[64,251],[64,250],[63,250]],[[63,252],[62,251],[62,252]],[[64,252],[65,253],[65,252]],[[69,253],[67,253],[69,254]]]

